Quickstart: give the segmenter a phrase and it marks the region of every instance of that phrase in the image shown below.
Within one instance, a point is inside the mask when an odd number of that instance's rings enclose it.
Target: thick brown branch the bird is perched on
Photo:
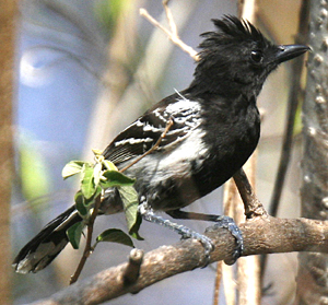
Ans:
[[[241,224],[241,230],[245,242],[244,256],[289,251],[328,253],[328,221],[256,218]],[[231,257],[235,241],[226,230],[211,226],[206,234],[215,245],[211,262]],[[125,281],[126,262],[33,304],[99,304],[127,293],[137,293],[163,279],[201,267],[203,254],[203,247],[195,239],[162,246],[144,255],[140,275],[133,284]]]

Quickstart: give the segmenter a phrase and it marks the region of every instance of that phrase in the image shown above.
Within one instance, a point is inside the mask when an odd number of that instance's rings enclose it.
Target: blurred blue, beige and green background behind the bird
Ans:
[[[271,40],[292,44],[298,24],[298,0],[259,0],[256,25]],[[20,2],[16,38],[15,176],[12,191],[12,254],[73,202],[78,179],[63,181],[61,169],[71,160],[92,161],[91,149],[105,149],[114,136],[148,107],[183,90],[192,80],[192,59],[139,15],[144,8],[167,26],[161,0],[28,0]],[[211,19],[237,14],[232,0],[172,0],[180,38],[197,48],[199,34],[212,31]],[[257,193],[268,204],[281,149],[289,63],[270,75],[258,99],[263,113],[257,162]],[[301,129],[300,129],[301,130]],[[298,131],[300,131],[298,130]],[[283,191],[280,216],[300,215],[300,143],[297,132]],[[222,190],[188,210],[222,212]],[[209,225],[181,221],[203,232]],[[96,233],[125,227],[124,215],[99,218]],[[143,223],[145,251],[174,244],[178,236]],[[83,248],[83,247],[82,247]],[[101,244],[81,279],[127,260],[130,248]],[[14,274],[14,304],[47,297],[68,285],[81,251],[68,246],[47,269]],[[166,279],[110,304],[212,304],[215,266]],[[296,255],[271,255],[262,304],[291,304]],[[282,275],[283,274],[283,275]],[[279,280],[278,280],[279,279]],[[222,297],[222,304],[224,300]]]

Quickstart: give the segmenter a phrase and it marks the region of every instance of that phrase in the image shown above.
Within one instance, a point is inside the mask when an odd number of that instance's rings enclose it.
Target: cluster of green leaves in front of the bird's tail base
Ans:
[[[90,224],[92,214],[98,211],[97,202],[106,200],[105,190],[117,188],[124,203],[129,235],[142,239],[138,231],[141,218],[138,213],[138,193],[133,188],[134,179],[120,173],[117,167],[106,160],[101,151],[93,150],[95,163],[71,161],[62,169],[63,179],[81,175],[81,188],[74,197],[75,208],[82,221],[75,223],[67,231],[67,236],[74,249],[79,248],[83,228]],[[105,199],[104,199],[105,198]],[[119,243],[133,247],[133,242],[127,233],[119,228],[108,228],[96,237],[92,249],[101,242]]]

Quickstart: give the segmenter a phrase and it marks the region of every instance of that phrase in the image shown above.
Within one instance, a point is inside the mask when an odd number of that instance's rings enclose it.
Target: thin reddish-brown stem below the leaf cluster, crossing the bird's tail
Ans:
[[[89,258],[89,256],[92,251],[91,243],[92,243],[93,225],[94,225],[94,221],[98,214],[98,209],[99,209],[101,203],[102,203],[102,200],[101,200],[101,195],[99,195],[95,200],[95,207],[94,207],[93,212],[87,222],[86,243],[85,243],[84,251],[83,251],[83,255],[80,259],[79,266],[78,266],[74,274],[71,277],[70,285],[78,281],[78,279],[83,270],[83,267],[86,262],[86,259]]]

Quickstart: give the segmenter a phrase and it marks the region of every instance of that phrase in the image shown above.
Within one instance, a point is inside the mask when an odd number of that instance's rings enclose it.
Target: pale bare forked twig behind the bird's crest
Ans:
[[[164,4],[164,3],[163,3]],[[164,5],[165,8],[165,5]],[[168,10],[165,9],[165,11]],[[177,33],[172,33],[169,32],[167,28],[165,28],[163,25],[161,25],[154,17],[152,17],[149,12],[145,9],[140,9],[139,10],[140,15],[142,15],[143,17],[145,17],[151,24],[153,24],[154,26],[159,27],[160,30],[162,30],[167,37],[178,47],[180,47],[181,50],[184,50],[185,52],[187,52],[195,61],[199,60],[199,56],[197,54],[197,51],[189,47],[188,45],[186,45],[177,35]],[[169,15],[171,16],[171,15]],[[169,24],[172,24],[172,22],[169,22]],[[172,26],[172,25],[171,25]]]

